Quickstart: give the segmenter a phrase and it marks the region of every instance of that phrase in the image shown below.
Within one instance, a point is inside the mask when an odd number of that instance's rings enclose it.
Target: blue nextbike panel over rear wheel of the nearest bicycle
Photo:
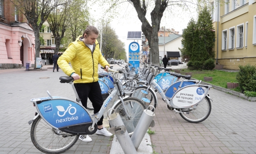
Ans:
[[[37,105],[45,120],[56,128],[91,122],[86,110],[69,100],[48,100]]]

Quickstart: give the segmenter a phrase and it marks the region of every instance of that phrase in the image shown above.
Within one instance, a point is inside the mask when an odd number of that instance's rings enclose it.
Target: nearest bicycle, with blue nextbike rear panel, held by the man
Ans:
[[[114,70],[108,70],[114,71]],[[121,71],[114,71],[115,73]],[[109,102],[115,95],[118,100],[113,108],[124,121],[129,134],[134,131],[140,116],[145,109],[139,99],[123,95],[122,84],[117,79],[115,89],[104,101],[100,111],[90,115],[83,107],[75,90],[72,77],[60,77],[60,83],[71,84],[76,101],[59,96],[34,98],[30,101],[37,111],[35,117],[28,123],[31,125],[30,137],[34,146],[47,154],[60,154],[70,149],[78,140],[79,135],[91,135],[97,131],[97,122],[105,112]]]

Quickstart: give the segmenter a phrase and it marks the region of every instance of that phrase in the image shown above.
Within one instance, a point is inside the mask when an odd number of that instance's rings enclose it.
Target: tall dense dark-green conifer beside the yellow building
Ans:
[[[197,22],[194,19],[190,20],[182,37],[181,42],[184,48],[180,48],[181,56],[182,59],[190,59],[188,67],[192,70],[212,70],[214,68],[212,59],[215,58],[215,51],[213,51],[215,32],[211,13],[207,7],[200,11]],[[211,60],[207,61],[207,59]]]

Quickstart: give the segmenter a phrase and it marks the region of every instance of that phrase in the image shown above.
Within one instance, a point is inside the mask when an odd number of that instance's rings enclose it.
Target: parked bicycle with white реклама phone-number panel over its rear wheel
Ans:
[[[161,70],[162,68],[160,68]],[[188,80],[191,76],[171,73],[181,81],[172,84],[164,93],[162,88],[154,81],[153,73],[150,74],[146,84],[137,87],[132,97],[137,97],[141,90],[147,92],[147,99],[154,103],[154,108],[158,105],[156,93],[151,85],[161,95],[169,110],[174,110],[181,117],[191,123],[202,122],[211,114],[211,98],[207,95],[211,86],[200,85],[200,81]],[[186,79],[186,80],[184,80]],[[147,107],[147,106],[145,106]]]

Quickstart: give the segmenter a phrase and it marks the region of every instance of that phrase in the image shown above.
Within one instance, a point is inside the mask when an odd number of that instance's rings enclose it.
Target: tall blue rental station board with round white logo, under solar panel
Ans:
[[[128,57],[129,63],[132,64],[132,66],[129,66],[130,69],[132,67],[136,68],[136,74],[138,73],[138,67],[139,67],[139,44],[137,42],[132,42],[129,44],[129,57]]]

